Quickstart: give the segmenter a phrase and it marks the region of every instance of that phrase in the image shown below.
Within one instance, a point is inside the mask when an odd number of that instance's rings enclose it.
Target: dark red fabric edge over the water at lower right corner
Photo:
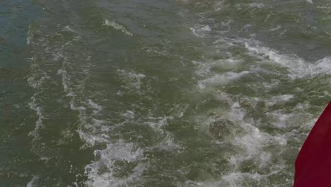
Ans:
[[[331,102],[296,157],[294,187],[331,186]]]

